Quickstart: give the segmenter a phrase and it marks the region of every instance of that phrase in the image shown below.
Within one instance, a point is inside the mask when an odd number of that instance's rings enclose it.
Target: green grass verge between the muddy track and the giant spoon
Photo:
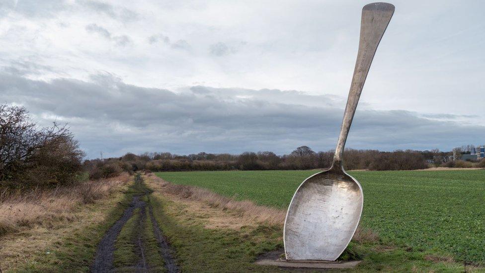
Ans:
[[[183,204],[158,193],[151,200],[155,218],[175,250],[182,272],[272,271],[253,262],[258,254],[282,247],[281,228],[207,229]]]

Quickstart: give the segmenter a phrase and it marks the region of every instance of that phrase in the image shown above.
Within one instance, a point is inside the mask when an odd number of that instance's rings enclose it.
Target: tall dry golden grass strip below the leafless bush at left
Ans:
[[[52,227],[62,221],[74,221],[72,212],[80,204],[93,203],[126,183],[128,175],[82,182],[55,189],[32,189],[28,192],[0,193],[0,236],[37,226]]]

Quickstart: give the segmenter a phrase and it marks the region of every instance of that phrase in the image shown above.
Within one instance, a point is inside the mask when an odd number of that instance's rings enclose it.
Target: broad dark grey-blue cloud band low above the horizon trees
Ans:
[[[0,76],[2,102],[25,105],[43,124],[54,118],[69,122],[90,157],[99,151],[109,156],[128,151],[281,154],[303,144],[328,150],[335,145],[343,113],[339,97],[298,91],[199,86],[172,92],[128,85],[110,74],[94,75],[89,82]],[[484,134],[484,126],[408,111],[360,110],[347,147],[447,150]]]

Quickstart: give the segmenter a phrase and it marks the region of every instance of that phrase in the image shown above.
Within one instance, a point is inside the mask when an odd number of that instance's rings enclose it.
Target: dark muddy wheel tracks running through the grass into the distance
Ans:
[[[135,184],[141,185],[143,183],[143,179],[140,175],[135,176]],[[132,271],[132,272],[150,272],[150,265],[147,263],[146,260],[146,248],[144,243],[144,236],[143,236],[143,227],[145,226],[146,222],[146,215],[147,215],[147,206],[148,206],[148,214],[150,215],[150,219],[153,225],[153,232],[155,238],[158,242],[160,253],[162,253],[162,257],[164,260],[164,267],[168,273],[178,273],[180,272],[175,259],[172,256],[172,251],[170,250],[169,245],[166,242],[165,237],[162,234],[160,229],[159,223],[156,220],[153,214],[153,206],[149,202],[141,201],[140,198],[146,195],[150,195],[151,192],[146,189],[143,194],[133,196],[133,199],[130,203],[130,206],[125,209],[123,215],[120,219],[118,219],[113,226],[109,228],[109,230],[105,233],[103,238],[98,244],[96,255],[94,258],[94,262],[91,266],[92,273],[105,273],[105,272],[119,272],[121,271]],[[149,196],[150,200],[150,196]],[[120,234],[121,230],[128,222],[131,217],[134,217],[135,209],[139,208],[139,215],[138,221],[136,223],[135,230],[136,234],[136,251],[135,254],[138,258],[138,263],[130,268],[123,268],[117,269],[113,265],[114,261],[114,252],[115,242]]]

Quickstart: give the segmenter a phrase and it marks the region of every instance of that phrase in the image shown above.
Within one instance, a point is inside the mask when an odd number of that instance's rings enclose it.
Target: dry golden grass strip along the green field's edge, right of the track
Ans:
[[[153,174],[147,174],[145,181],[155,192],[183,201],[187,212],[196,212],[206,220],[206,228],[239,229],[262,223],[282,227],[285,223],[286,210],[259,206],[248,200],[237,201],[205,188],[173,184]],[[379,235],[359,226],[352,240],[360,244],[377,243]]]

